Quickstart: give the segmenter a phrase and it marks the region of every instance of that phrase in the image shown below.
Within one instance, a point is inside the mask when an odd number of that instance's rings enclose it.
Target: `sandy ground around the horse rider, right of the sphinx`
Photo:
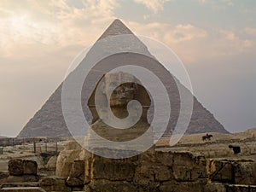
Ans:
[[[207,158],[253,159],[256,160],[256,128],[244,132],[223,134],[208,133],[213,137],[211,141],[202,141],[206,134],[185,135],[174,146],[169,145],[170,138],[162,138],[156,143],[157,150],[189,151],[202,154]],[[234,154],[232,147],[239,147],[240,153]]]

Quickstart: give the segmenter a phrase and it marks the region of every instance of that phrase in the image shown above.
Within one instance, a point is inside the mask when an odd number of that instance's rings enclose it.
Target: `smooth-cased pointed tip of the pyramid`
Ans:
[[[121,20],[115,19],[110,24],[110,26],[108,26],[106,31],[103,32],[102,36],[99,39],[108,38],[110,36],[115,36],[115,35],[125,35],[125,34],[133,34],[133,32],[131,32],[131,30],[127,26],[125,26],[125,24]]]

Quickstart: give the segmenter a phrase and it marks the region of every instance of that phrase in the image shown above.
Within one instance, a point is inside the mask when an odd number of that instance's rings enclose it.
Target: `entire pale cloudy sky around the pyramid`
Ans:
[[[116,18],[178,55],[226,130],[256,127],[254,0],[1,0],[0,136],[18,135]]]

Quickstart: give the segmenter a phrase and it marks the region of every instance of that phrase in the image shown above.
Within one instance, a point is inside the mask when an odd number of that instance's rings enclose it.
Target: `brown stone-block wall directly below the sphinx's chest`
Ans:
[[[86,161],[85,189],[90,192],[203,192],[207,184],[207,161],[201,155],[149,150],[123,160],[92,154]]]

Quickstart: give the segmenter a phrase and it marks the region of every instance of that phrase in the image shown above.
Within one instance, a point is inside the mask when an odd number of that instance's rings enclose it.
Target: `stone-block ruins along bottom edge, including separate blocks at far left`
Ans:
[[[104,151],[108,153],[107,148]],[[3,179],[1,188],[39,187],[47,192],[256,192],[254,160],[206,159],[201,154],[154,148],[114,160],[89,153],[72,142],[59,155],[57,167],[58,176],[38,177],[35,161],[10,160],[9,177]]]

